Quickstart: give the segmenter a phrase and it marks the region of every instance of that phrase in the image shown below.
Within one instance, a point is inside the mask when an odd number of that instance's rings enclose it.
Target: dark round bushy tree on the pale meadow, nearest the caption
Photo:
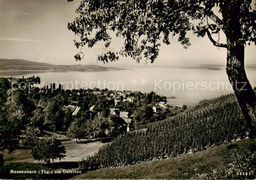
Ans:
[[[66,155],[66,148],[56,138],[42,138],[34,146],[32,155],[35,160],[50,163],[50,159],[63,159]]]

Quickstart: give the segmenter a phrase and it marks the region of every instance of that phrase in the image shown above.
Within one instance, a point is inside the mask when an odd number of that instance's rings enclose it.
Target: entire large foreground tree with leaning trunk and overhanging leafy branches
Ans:
[[[93,47],[101,40],[109,47],[110,30],[125,38],[120,52],[108,51],[98,56],[103,62],[117,60],[121,55],[130,56],[136,62],[144,56],[153,63],[158,56],[160,35],[163,43],[170,44],[169,38],[178,34],[184,48],[190,45],[187,31],[193,30],[197,36],[207,35],[214,46],[227,49],[226,73],[250,128],[250,137],[254,137],[256,95],[244,68],[246,42],[250,45],[256,41],[256,11],[251,3],[251,0],[81,0],[76,9],[79,17],[68,23],[68,29],[80,37],[80,42],[74,40],[77,48]],[[199,24],[193,25],[191,20]],[[220,31],[226,36],[226,44],[212,36]],[[76,60],[82,58],[81,51],[75,55]]]

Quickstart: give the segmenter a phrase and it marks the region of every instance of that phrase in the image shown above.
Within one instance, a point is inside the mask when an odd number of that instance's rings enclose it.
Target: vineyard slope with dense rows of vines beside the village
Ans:
[[[177,157],[244,138],[248,131],[234,94],[204,100],[176,116],[149,123],[145,128],[146,131],[118,136],[94,156],[80,161],[79,167],[118,167]]]

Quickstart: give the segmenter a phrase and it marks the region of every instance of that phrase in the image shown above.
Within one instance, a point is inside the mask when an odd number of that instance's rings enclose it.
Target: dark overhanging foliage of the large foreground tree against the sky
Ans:
[[[201,27],[194,31],[198,36],[204,36],[207,29],[211,30],[211,33],[218,33],[223,28],[223,23],[227,22],[223,22],[212,10],[218,7],[223,16],[232,2],[221,0],[81,0],[76,10],[80,16],[73,23],[68,23],[68,29],[80,37],[81,42],[76,43],[76,47],[83,47],[86,44],[88,47],[93,47],[103,40],[107,48],[111,40],[108,35],[110,30],[115,31],[118,37],[125,39],[124,48],[116,55],[107,52],[106,56],[99,55],[98,60],[109,62],[117,60],[118,55],[121,55],[130,56],[136,62],[145,58],[152,63],[158,56],[160,45],[159,42],[152,43],[151,36],[154,35],[155,39],[160,40],[160,35],[163,34],[162,42],[170,44],[170,32],[172,36],[178,34],[178,41],[184,48],[188,48],[190,43],[186,34],[191,30],[190,20],[200,21]],[[246,1],[241,3],[240,12],[243,43],[255,42],[256,11],[252,11],[249,1]],[[203,25],[206,16],[216,24]],[[223,30],[227,31],[224,28]],[[90,32],[95,31],[96,34],[91,37]],[[80,54],[75,56],[76,60],[82,58]]]

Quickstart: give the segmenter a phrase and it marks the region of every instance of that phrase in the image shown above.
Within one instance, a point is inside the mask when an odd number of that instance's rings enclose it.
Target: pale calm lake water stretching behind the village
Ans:
[[[256,71],[247,69],[246,74],[252,87],[256,86]],[[25,78],[39,76],[41,86],[49,86],[54,81],[62,82],[64,89],[81,88],[83,82],[82,87],[85,89],[99,87],[143,93],[155,91],[159,95],[177,97],[168,99],[167,102],[178,106],[183,104],[193,106],[203,99],[233,92],[225,69],[133,68],[99,72],[0,71],[1,77],[21,78],[23,75]]]

